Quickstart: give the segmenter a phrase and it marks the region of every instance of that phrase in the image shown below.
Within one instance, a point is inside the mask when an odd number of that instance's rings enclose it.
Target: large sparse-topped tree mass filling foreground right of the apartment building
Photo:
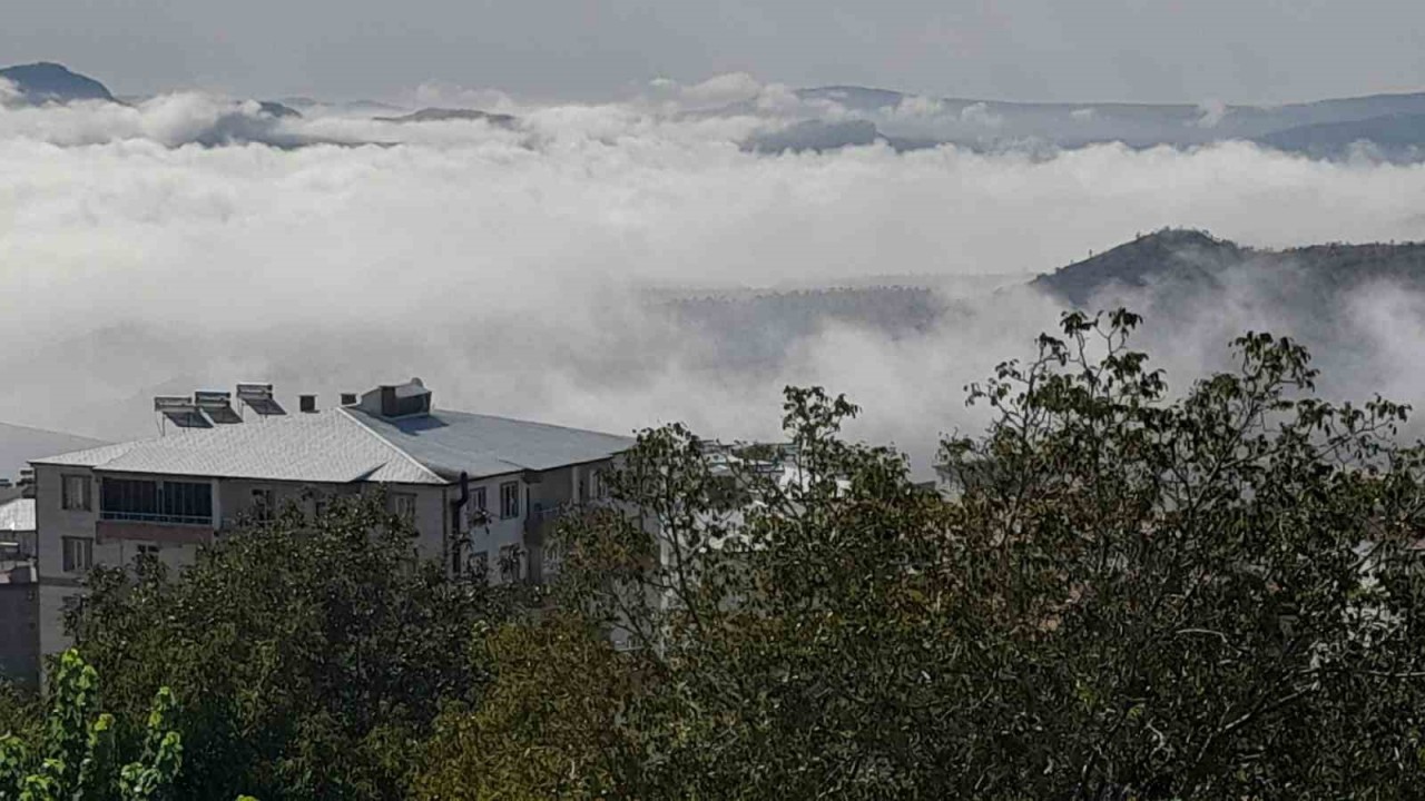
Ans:
[[[1127,346],[1137,324],[1066,315],[973,386],[995,419],[945,442],[952,499],[842,440],[856,408],[815,389],[787,393],[782,475],[644,432],[614,503],[557,534],[573,651],[627,650],[537,673],[551,698],[610,700],[590,718],[610,747],[534,706],[452,714],[475,734],[443,758],[570,755],[530,797],[1408,795],[1425,455],[1395,443],[1406,409],[1317,399],[1307,352],[1260,334],[1173,395]],[[517,664],[494,696],[536,697]]]

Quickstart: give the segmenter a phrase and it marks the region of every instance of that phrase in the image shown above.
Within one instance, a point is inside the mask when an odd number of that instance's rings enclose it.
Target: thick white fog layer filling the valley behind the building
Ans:
[[[748,81],[611,105],[413,98],[513,127],[278,120],[198,94],[0,103],[0,420],[124,438],[154,432],[155,392],[269,379],[329,405],[418,375],[446,408],[760,438],[794,382],[849,393],[866,408],[856,435],[923,465],[938,433],[982,422],[965,385],[1054,325],[1053,301],[1016,288],[1035,272],[1167,225],[1257,247],[1425,238],[1421,167],[1251,144],[758,155],[738,143],[765,117],[707,110],[798,101]],[[969,281],[983,275],[998,278]],[[1177,383],[1243,328],[1315,331],[1255,302],[1255,281],[1160,309],[1144,343]],[[828,316],[768,358],[775,326],[755,314],[693,325],[668,306],[878,282],[932,288],[943,311]],[[1344,298],[1311,342],[1342,376],[1327,386],[1409,400],[1422,309],[1389,286]]]

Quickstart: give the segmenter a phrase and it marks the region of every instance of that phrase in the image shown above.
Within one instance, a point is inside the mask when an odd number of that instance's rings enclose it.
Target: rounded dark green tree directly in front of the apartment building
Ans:
[[[225,533],[177,574],[147,560],[90,587],[78,648],[120,710],[172,688],[185,798],[403,797],[442,704],[484,684],[466,656],[476,624],[510,607],[420,559],[375,493]]]

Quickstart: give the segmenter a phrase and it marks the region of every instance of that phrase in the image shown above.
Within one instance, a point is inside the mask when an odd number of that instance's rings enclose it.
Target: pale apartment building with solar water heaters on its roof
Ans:
[[[550,524],[600,495],[598,472],[633,440],[436,409],[419,379],[286,413],[269,385],[155,399],[162,436],[33,460],[40,650],[68,647],[63,610],[95,564],[152,553],[191,564],[249,517],[385,489],[419,550],[492,582],[539,580]],[[251,418],[251,419],[248,419]]]

